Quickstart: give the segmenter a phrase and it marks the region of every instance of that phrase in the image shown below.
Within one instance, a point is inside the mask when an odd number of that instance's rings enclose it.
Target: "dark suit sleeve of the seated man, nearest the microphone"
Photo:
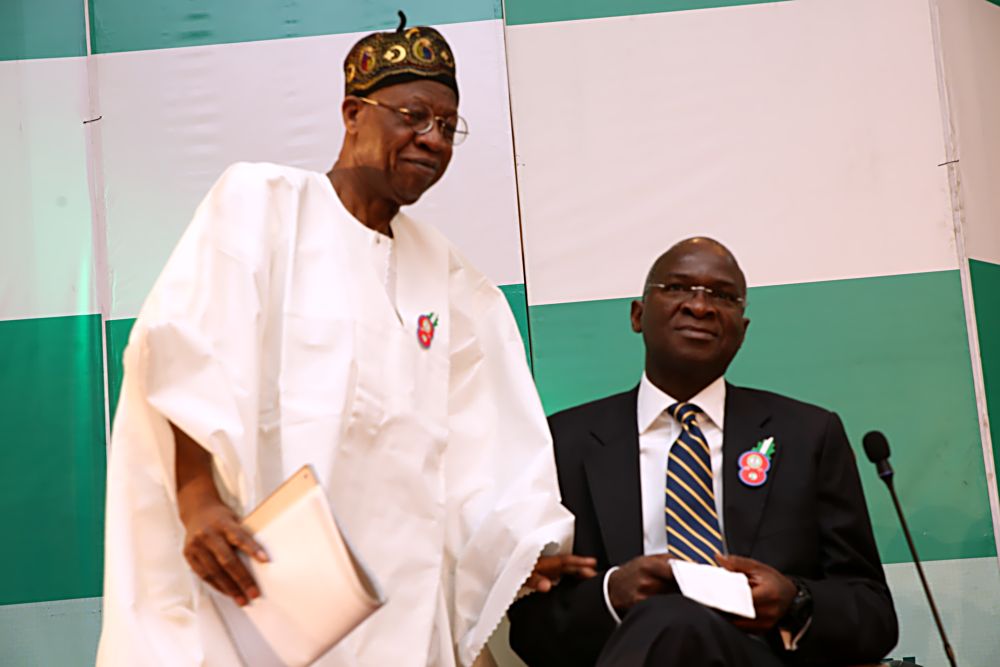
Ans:
[[[804,580],[813,597],[813,617],[794,662],[872,662],[896,645],[898,626],[854,452],[835,414],[819,452],[818,483],[823,576]]]

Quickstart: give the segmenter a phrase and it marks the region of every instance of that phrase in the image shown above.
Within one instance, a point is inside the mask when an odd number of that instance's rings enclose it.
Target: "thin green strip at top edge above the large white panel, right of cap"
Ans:
[[[762,5],[786,0],[507,0],[507,24],[552,23],[690,9]],[[595,46],[595,48],[600,48]]]

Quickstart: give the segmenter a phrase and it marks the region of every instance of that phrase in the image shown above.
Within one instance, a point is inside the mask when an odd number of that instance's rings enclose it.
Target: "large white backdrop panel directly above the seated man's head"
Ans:
[[[508,49],[532,304],[632,295],[694,234],[755,285],[957,267],[923,2],[513,26]]]

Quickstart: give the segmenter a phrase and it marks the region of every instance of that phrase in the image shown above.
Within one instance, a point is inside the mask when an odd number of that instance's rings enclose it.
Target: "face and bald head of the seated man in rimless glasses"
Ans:
[[[632,329],[642,333],[649,360],[663,368],[721,376],[743,344],[750,321],[739,304],[680,288],[697,285],[716,295],[745,297],[736,262],[714,244],[688,243],[664,255],[649,282],[670,286],[647,287],[644,298],[632,304]]]

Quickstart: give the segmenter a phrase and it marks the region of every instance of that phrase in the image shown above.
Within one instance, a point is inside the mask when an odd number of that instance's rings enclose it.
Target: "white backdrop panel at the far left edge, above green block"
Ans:
[[[96,310],[85,58],[0,62],[0,319]]]

